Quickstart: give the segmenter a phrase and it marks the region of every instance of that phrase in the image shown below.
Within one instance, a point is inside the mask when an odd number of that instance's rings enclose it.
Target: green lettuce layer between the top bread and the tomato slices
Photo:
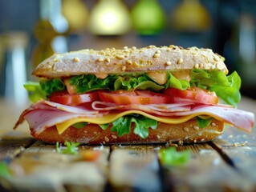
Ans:
[[[168,87],[175,87],[179,90],[185,90],[189,86],[198,86],[206,90],[214,91],[222,101],[227,104],[237,106],[241,100],[240,87],[241,78],[238,73],[226,76],[217,70],[191,71],[191,81],[177,79],[168,73],[168,80],[164,85],[159,85],[147,74],[136,75],[108,75],[107,78],[97,78],[94,74],[77,75],[69,79],[71,86],[75,86],[77,94],[85,93],[91,90],[152,90],[161,91]],[[42,80],[39,83],[27,82],[24,87],[29,91],[31,102],[39,101],[40,98],[49,98],[50,94],[56,90],[66,90],[66,86],[59,78],[51,80]]]

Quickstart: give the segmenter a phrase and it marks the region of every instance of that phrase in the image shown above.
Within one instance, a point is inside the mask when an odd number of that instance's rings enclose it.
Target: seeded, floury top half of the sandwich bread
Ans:
[[[213,50],[181,46],[124,47],[123,50],[79,50],[54,54],[32,73],[43,78],[63,78],[79,74],[128,74],[156,70],[221,70],[228,74],[221,56]]]

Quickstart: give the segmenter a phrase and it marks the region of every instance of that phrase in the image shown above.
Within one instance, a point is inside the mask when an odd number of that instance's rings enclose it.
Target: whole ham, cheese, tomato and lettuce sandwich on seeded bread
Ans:
[[[147,46],[54,54],[27,82],[24,120],[43,142],[134,144],[207,142],[225,125],[250,132],[238,110],[241,78],[213,50]]]

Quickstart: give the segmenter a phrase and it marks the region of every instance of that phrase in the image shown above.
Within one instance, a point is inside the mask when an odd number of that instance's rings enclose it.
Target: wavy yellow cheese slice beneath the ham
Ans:
[[[114,121],[116,121],[116,119],[123,117],[124,115],[127,115],[127,114],[141,114],[144,117],[152,118],[158,122],[165,122],[165,123],[169,123],[169,124],[177,124],[177,123],[181,123],[181,122],[187,122],[187,121],[189,121],[189,119],[198,116],[198,114],[195,113],[195,114],[191,114],[191,115],[187,115],[187,116],[182,116],[179,118],[171,118],[171,117],[162,117],[162,116],[155,116],[152,114],[147,114],[140,110],[127,110],[127,111],[123,111],[123,112],[104,114],[103,117],[98,117],[98,118],[72,118],[70,120],[67,120],[66,122],[57,124],[56,127],[57,127],[59,134],[63,134],[63,132],[68,129],[68,127],[72,126],[73,124],[75,124],[77,122],[107,124],[110,122],[114,122]]]

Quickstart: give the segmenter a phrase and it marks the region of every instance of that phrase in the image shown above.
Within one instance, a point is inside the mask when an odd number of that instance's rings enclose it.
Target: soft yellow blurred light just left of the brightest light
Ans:
[[[63,0],[63,15],[71,31],[83,30],[87,26],[88,10],[81,0]]]

